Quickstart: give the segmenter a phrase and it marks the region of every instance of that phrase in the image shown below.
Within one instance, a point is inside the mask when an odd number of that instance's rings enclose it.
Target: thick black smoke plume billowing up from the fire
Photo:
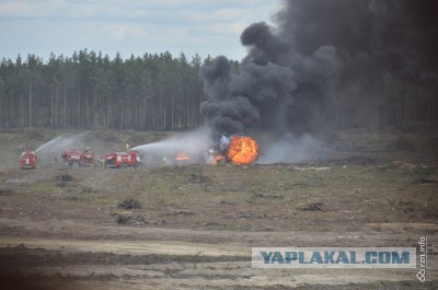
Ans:
[[[281,3],[274,26],[255,23],[242,33],[249,53],[239,73],[223,56],[201,68],[209,100],[200,113],[216,131],[376,127],[390,80],[434,93],[437,1]]]

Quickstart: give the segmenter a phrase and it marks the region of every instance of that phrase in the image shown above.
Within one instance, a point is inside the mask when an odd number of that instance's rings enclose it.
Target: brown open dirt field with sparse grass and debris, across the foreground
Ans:
[[[9,289],[437,289],[438,130],[325,137],[293,164],[20,170],[20,144],[48,129],[0,131],[0,280]],[[89,131],[103,153],[165,134]],[[256,269],[251,247],[417,247],[417,269]]]

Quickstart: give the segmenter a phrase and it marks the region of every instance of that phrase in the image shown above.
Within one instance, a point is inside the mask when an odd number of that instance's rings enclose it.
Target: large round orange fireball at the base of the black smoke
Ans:
[[[258,146],[251,137],[232,136],[227,156],[238,165],[251,164],[258,158]]]

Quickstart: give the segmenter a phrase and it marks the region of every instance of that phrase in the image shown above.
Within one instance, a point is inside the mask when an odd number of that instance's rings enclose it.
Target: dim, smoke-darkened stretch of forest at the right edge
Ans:
[[[334,95],[335,108],[330,114],[336,129],[404,128],[411,123],[438,120],[438,85],[435,81],[403,80],[390,73],[379,81],[374,84],[377,88],[361,91],[360,86],[351,86]]]

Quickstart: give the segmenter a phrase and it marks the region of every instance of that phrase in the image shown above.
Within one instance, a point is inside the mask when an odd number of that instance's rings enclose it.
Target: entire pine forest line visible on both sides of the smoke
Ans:
[[[0,128],[185,130],[204,123],[199,105],[208,100],[199,70],[212,62],[169,51],[113,59],[101,53],[71,57],[35,55],[0,63]],[[240,63],[230,60],[238,73]],[[341,92],[328,118],[337,129],[403,126],[438,120],[438,88],[387,76],[374,97]],[[360,109],[357,109],[357,107]],[[355,114],[350,114],[356,112]]]

